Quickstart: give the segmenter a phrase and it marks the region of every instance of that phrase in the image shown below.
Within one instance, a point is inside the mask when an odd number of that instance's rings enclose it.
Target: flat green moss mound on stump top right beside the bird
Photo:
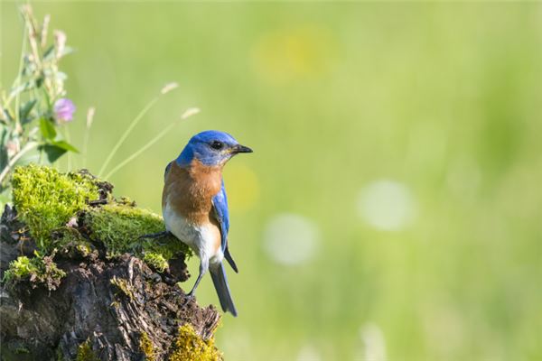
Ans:
[[[103,242],[109,255],[125,252],[161,255],[169,260],[175,255],[192,255],[190,249],[173,236],[160,239],[138,239],[139,236],[164,231],[164,221],[153,212],[135,208],[133,203],[113,203],[91,208],[85,216],[91,237]]]

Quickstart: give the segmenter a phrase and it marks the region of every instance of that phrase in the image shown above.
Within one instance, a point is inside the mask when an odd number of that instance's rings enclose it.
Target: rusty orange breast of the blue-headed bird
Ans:
[[[162,208],[169,203],[173,210],[194,224],[218,222],[212,216],[212,198],[222,185],[222,166],[206,166],[194,160],[190,167],[172,162],[165,175]],[[219,227],[220,229],[220,227]]]

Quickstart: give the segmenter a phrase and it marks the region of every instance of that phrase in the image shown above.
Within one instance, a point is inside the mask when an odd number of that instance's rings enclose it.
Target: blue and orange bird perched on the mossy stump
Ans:
[[[162,213],[165,233],[173,234],[200,258],[200,272],[188,296],[193,296],[207,271],[224,312],[237,317],[223,259],[238,273],[229,253],[228,197],[222,169],[238,153],[252,153],[228,133],[209,130],[192,136],[164,172]]]

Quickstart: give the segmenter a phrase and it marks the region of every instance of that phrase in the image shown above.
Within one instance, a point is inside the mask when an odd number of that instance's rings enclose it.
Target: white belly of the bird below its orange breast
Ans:
[[[212,225],[195,225],[179,216],[169,204],[163,209],[165,229],[173,233],[182,243],[192,248],[200,259],[208,260],[211,264],[221,262],[224,257],[222,250],[215,249],[216,240],[212,232]]]

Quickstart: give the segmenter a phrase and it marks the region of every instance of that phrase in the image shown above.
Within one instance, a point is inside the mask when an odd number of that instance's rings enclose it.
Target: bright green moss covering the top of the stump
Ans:
[[[164,231],[164,221],[149,210],[136,208],[131,199],[109,197],[107,204],[90,207],[90,200],[99,199],[103,184],[88,174],[63,174],[48,167],[29,165],[15,169],[12,185],[14,206],[45,255],[56,248],[60,255],[86,257],[94,249],[89,237],[93,242],[103,243],[109,256],[124,253],[144,256],[145,262],[160,272],[173,257],[192,255],[190,248],[173,236],[139,239]],[[70,222],[68,227],[67,223],[74,217],[79,225]],[[24,262],[21,261],[19,268]],[[19,271],[7,276],[16,277]]]

